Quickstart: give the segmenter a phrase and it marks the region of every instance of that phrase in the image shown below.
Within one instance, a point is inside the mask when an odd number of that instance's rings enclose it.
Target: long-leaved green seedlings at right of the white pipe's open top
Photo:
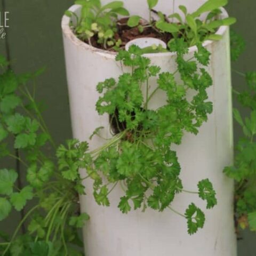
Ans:
[[[157,5],[158,0],[148,0],[150,13]],[[149,18],[151,26],[160,31],[171,33],[174,38],[182,36],[190,46],[202,43],[205,40],[219,40],[220,35],[215,34],[220,26],[230,26],[236,22],[235,18],[220,19],[220,7],[225,6],[228,0],[208,0],[200,6],[195,12],[188,13],[184,5],[180,5],[179,9],[184,14],[182,19],[179,13],[173,13],[169,16],[158,12],[159,19],[154,21]],[[199,19],[202,14],[208,13],[204,20]],[[171,19],[171,20],[170,20]],[[130,17],[128,25],[131,27],[139,26],[141,17],[135,15]],[[174,23],[173,21],[176,20]]]

